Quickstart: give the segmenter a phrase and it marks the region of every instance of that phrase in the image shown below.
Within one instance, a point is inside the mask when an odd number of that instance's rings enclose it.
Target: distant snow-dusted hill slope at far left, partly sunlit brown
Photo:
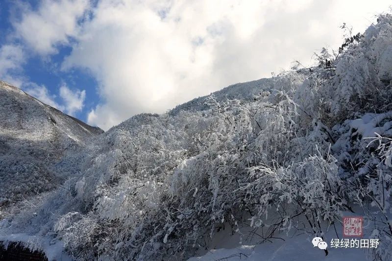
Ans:
[[[79,151],[102,133],[0,81],[0,217],[74,176]]]

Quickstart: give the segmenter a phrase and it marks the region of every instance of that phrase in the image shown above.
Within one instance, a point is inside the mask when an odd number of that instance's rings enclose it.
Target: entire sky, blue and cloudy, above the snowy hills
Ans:
[[[389,1],[4,0],[0,79],[107,130],[314,63]]]

